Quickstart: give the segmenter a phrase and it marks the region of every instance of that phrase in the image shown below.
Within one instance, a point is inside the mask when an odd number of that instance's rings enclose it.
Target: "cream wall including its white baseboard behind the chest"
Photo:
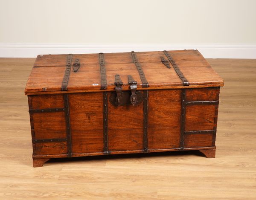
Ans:
[[[180,48],[256,58],[256,0],[0,0],[0,57]]]

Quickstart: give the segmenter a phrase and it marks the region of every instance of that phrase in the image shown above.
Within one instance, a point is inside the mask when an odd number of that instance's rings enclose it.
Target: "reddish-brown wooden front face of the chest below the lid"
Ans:
[[[143,93],[143,91],[140,91]],[[107,152],[104,150],[103,93],[29,96],[34,156],[71,156],[111,152],[183,150],[215,147],[219,88],[148,91],[147,136],[144,100],[135,106],[116,106],[107,92]],[[181,103],[183,102],[183,104]],[[182,105],[185,108],[182,123]],[[71,145],[68,145],[67,112]]]

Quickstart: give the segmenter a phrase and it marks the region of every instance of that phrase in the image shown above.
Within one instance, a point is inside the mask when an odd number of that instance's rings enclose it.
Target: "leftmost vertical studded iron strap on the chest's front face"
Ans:
[[[65,108],[65,121],[67,133],[67,157],[72,157],[72,141],[71,141],[71,128],[70,128],[70,111],[68,105],[68,94],[64,94],[64,108]]]

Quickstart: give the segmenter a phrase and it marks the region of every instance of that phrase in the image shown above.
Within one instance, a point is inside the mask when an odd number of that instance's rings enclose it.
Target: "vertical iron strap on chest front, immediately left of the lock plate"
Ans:
[[[108,154],[108,93],[103,92],[103,139],[104,154]]]

